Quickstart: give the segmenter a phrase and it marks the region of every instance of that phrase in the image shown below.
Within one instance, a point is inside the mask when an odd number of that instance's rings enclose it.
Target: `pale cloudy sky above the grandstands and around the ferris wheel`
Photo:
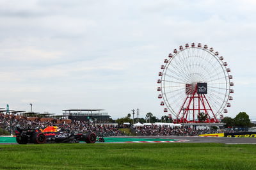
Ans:
[[[185,43],[218,50],[234,79],[224,116],[256,119],[256,1],[0,1],[0,107],[164,115],[157,79]]]

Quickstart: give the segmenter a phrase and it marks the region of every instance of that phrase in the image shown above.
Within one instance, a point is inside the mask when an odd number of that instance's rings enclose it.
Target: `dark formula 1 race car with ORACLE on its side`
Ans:
[[[94,132],[85,134],[71,132],[68,129],[60,129],[58,127],[46,127],[43,129],[17,128],[15,130],[16,141],[19,144],[27,143],[95,143],[97,141]]]

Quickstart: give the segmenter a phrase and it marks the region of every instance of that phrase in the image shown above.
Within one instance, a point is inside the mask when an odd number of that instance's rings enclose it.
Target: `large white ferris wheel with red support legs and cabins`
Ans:
[[[158,73],[158,98],[164,112],[170,112],[175,123],[198,123],[202,112],[204,123],[218,123],[218,116],[228,112],[226,107],[233,100],[233,77],[227,66],[219,52],[201,43],[174,49]]]

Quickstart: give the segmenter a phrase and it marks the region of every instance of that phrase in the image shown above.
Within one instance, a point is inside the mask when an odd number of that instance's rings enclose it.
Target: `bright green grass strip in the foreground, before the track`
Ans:
[[[0,169],[255,169],[255,144],[0,145]]]

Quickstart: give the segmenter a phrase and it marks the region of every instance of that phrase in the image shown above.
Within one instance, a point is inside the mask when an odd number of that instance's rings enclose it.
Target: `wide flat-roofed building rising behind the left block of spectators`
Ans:
[[[74,121],[90,121],[94,123],[106,123],[109,121],[108,112],[101,112],[104,109],[67,109],[63,110],[63,116]]]

